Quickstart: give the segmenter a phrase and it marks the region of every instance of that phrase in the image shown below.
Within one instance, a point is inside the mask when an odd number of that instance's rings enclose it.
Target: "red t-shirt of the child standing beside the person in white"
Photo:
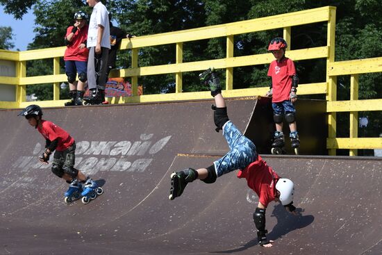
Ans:
[[[65,38],[69,33],[72,33],[74,26],[69,26],[66,31]],[[74,61],[88,61],[89,50],[86,48],[78,49],[80,44],[88,39],[88,25],[83,26],[83,28],[78,28],[76,33],[74,33],[72,41],[65,49],[64,60],[74,60]]]

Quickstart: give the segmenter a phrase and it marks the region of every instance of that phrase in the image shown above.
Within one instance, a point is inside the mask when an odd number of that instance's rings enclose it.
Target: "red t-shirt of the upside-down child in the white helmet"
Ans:
[[[276,182],[280,177],[260,156],[243,170],[239,170],[238,178],[247,179],[249,188],[256,192],[260,203],[265,207],[268,206],[269,202],[274,201]]]

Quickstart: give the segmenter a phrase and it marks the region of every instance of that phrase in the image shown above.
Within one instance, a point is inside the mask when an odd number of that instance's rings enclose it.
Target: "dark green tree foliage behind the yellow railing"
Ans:
[[[22,17],[29,8],[35,14],[35,38],[28,49],[58,47],[63,45],[65,29],[72,24],[73,13],[91,9],[80,0],[0,0],[7,13]],[[151,35],[188,28],[237,22],[321,6],[336,6],[335,60],[352,60],[382,56],[382,17],[379,15],[379,0],[115,0],[106,1],[113,14],[113,21],[128,33]],[[267,52],[269,40],[282,36],[282,29],[260,31],[235,36],[234,56],[247,56]],[[292,27],[291,49],[326,45],[326,24],[311,24]],[[289,48],[290,49],[290,48]],[[224,38],[214,38],[183,45],[183,62],[224,58]],[[287,51],[288,56],[288,51]],[[128,51],[121,51],[117,66],[130,65]],[[175,62],[173,44],[145,47],[139,52],[139,65],[165,65]],[[42,61],[41,65],[44,61]],[[325,60],[305,60],[296,63],[301,83],[322,82],[325,77]],[[31,75],[42,75],[44,68],[32,68]],[[35,73],[36,72],[36,73]],[[234,88],[250,88],[269,85],[267,65],[234,68]],[[222,72],[222,75],[223,72]],[[349,77],[339,77],[338,99],[349,97]],[[144,76],[139,83],[144,92],[174,92],[174,75]],[[360,97],[363,99],[381,96],[381,74],[360,77]],[[196,73],[183,74],[185,91],[204,90]]]

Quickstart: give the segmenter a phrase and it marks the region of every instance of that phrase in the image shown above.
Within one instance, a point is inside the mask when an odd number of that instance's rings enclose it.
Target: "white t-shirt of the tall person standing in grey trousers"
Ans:
[[[88,43],[86,45],[88,48],[97,46],[98,25],[101,25],[104,28],[101,47],[110,49],[110,26],[108,10],[100,1],[96,3],[93,8],[92,15],[90,16]]]

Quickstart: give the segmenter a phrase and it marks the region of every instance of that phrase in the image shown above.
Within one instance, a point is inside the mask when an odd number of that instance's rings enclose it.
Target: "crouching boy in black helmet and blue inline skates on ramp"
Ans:
[[[46,140],[45,150],[39,157],[42,163],[48,164],[52,152],[55,151],[51,172],[69,183],[69,188],[65,192],[65,202],[67,204],[79,199],[81,196],[83,196],[83,203],[88,204],[90,199],[94,199],[97,195],[103,193],[102,188],[97,187],[97,183],[89,176],[85,176],[83,172],[74,168],[76,142],[60,126],[42,120],[40,106],[35,104],[27,106],[19,113],[19,116],[26,117],[28,123],[34,126]]]

